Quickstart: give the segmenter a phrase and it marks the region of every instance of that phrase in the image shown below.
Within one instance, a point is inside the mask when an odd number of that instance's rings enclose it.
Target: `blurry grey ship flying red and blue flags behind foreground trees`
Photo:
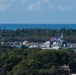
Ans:
[[[63,40],[63,35],[56,37],[51,37],[50,41],[46,41],[41,45],[42,49],[76,49],[76,46],[68,45],[68,43]]]

